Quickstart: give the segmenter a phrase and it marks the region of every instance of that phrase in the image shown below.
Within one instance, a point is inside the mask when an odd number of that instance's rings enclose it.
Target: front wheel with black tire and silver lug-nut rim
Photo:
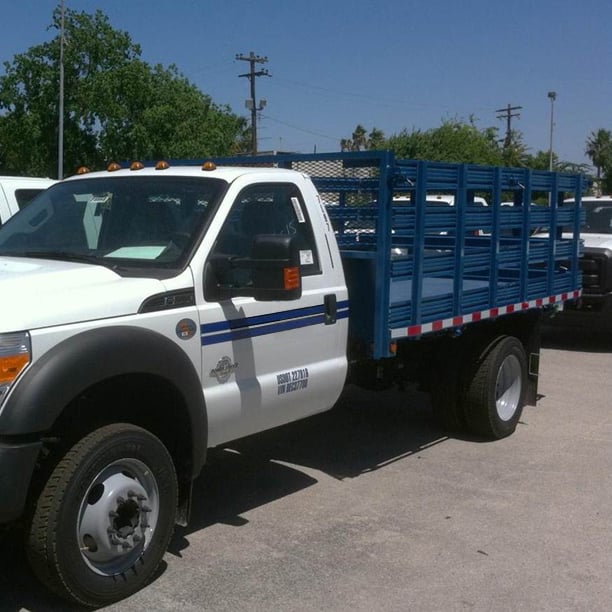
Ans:
[[[97,429],[59,461],[38,498],[26,549],[62,598],[108,605],[142,588],[172,535],[177,480],[166,447],[124,423]]]

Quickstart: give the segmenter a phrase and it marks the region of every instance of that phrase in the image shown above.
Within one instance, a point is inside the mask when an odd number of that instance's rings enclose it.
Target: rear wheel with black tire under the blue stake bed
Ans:
[[[498,440],[514,432],[527,389],[527,357],[512,336],[501,336],[480,355],[462,398],[468,430]]]

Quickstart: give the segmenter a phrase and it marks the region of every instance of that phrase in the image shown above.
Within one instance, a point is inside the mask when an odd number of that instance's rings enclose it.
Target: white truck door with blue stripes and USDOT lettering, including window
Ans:
[[[318,212],[318,211],[317,211]],[[208,262],[248,257],[259,234],[297,236],[302,297],[223,299],[219,287],[248,286],[250,271],[206,265],[200,308],[202,385],[209,444],[216,445],[330,408],[346,376],[346,289],[317,244],[302,193],[293,183],[245,187]],[[339,266],[338,266],[339,267]]]

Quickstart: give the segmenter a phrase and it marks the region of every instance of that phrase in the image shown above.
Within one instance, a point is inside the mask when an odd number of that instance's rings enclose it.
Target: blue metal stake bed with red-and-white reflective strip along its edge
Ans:
[[[351,337],[373,358],[390,356],[401,338],[580,295],[582,175],[389,151],[216,161],[311,176],[344,261]],[[563,206],[568,197],[577,204]]]

